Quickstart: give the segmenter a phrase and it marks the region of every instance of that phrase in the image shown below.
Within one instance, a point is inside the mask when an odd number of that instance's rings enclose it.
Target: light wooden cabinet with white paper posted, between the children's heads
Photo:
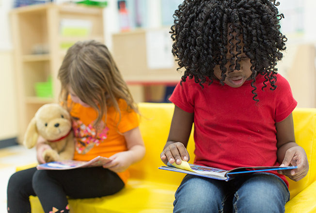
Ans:
[[[164,95],[162,93],[165,92],[165,86],[175,86],[183,75],[176,70],[178,64],[171,54],[172,41],[169,31],[170,29],[134,30],[112,35],[114,60],[136,102],[152,101],[154,96],[161,97]],[[148,41],[148,35],[154,36],[154,40]],[[155,50],[158,50],[157,55]],[[148,58],[159,60],[158,64],[163,65],[166,62],[164,60],[170,61],[166,54],[171,55],[171,63],[152,68],[150,63],[155,61]],[[151,97],[146,97],[148,94]]]

